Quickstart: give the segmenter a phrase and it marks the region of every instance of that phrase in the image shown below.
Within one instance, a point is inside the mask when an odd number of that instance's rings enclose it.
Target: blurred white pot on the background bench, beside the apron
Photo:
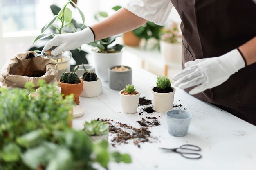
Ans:
[[[182,44],[160,41],[161,56],[166,62],[181,63]]]

